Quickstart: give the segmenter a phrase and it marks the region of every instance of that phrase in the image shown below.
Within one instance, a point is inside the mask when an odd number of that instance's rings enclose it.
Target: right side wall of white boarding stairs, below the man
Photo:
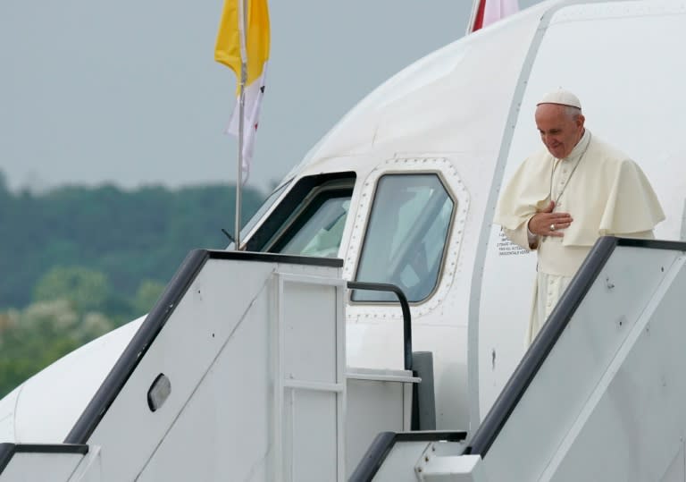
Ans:
[[[469,440],[381,434],[350,480],[686,480],[685,252],[599,240]]]

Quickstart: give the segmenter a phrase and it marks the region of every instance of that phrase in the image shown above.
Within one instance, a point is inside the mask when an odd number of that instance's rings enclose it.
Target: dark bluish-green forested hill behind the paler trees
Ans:
[[[111,292],[131,298],[142,280],[167,283],[191,249],[225,248],[222,227],[234,231],[235,193],[226,185],[68,186],[14,195],[3,190],[2,179],[0,308],[29,304],[34,286],[54,266],[100,272]],[[242,199],[246,224],[264,196],[244,189]]]

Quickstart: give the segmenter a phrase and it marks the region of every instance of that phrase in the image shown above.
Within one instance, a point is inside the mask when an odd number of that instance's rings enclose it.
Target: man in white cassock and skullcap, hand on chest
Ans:
[[[526,346],[599,236],[653,239],[665,219],[640,167],[584,127],[578,97],[547,94],[535,119],[546,148],[519,166],[494,219],[511,241],[538,251]]]

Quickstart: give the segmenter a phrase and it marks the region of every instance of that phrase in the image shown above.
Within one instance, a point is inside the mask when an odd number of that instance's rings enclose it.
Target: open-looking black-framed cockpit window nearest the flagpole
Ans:
[[[354,186],[354,173],[320,174],[299,180],[247,241],[247,249],[339,256]]]

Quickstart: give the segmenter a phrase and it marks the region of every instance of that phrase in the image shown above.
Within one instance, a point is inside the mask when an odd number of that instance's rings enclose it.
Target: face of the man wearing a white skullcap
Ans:
[[[536,107],[536,127],[548,152],[562,159],[572,152],[583,135],[583,115],[570,115],[566,106],[541,104]]]

